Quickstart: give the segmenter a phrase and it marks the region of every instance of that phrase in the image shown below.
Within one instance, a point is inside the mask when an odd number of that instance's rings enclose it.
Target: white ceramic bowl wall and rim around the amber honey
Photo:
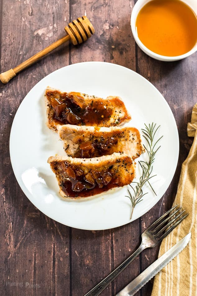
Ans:
[[[136,23],[136,18],[138,16],[138,12],[141,10],[141,8],[151,0],[138,0],[136,4],[134,5],[133,11],[131,13],[131,30],[134,36],[134,39],[138,46],[145,52],[147,55],[152,57],[153,59],[160,60],[160,61],[177,61],[177,60],[182,60],[185,59],[187,56],[192,55],[196,50],[197,50],[197,43],[195,46],[185,53],[184,55],[177,55],[177,56],[165,56],[165,55],[158,55],[152,50],[149,50],[143,43],[142,41],[139,40],[136,28],[135,28],[135,23]],[[187,4],[197,15],[197,0],[181,0],[185,4]]]

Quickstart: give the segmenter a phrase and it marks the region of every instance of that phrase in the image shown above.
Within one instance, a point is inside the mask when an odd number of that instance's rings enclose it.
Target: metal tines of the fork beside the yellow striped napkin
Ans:
[[[188,213],[186,213],[185,215],[182,215],[185,212],[185,210],[182,210],[182,207],[179,207],[176,209],[177,206],[178,206],[178,204],[176,206],[172,207],[165,214],[163,214],[159,219],[157,219],[149,227],[149,232],[151,232],[151,234],[156,239],[158,239],[158,240],[164,239],[164,237],[166,237],[188,215]],[[175,210],[175,211],[172,212],[173,210]],[[170,215],[168,216],[168,214],[170,214]]]

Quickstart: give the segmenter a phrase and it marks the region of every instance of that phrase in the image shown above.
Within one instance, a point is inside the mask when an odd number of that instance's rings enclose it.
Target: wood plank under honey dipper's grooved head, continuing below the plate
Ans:
[[[74,1],[71,5],[72,18],[77,11],[87,14],[95,27],[96,34],[78,47],[71,46],[70,63],[89,60],[109,60],[106,50],[109,30],[101,23],[108,17],[108,3],[102,1]],[[77,8],[77,9],[76,9]],[[101,36],[101,35],[106,36]],[[84,295],[113,269],[111,230],[83,231],[72,229],[72,295]],[[111,286],[103,295],[112,295]]]

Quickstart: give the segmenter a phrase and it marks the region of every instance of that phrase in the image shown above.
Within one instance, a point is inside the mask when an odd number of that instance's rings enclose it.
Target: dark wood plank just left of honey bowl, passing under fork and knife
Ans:
[[[109,36],[108,42],[110,62],[120,64],[135,70],[135,43],[130,28],[130,17],[134,1],[109,2]],[[120,81],[121,83],[121,81]],[[140,244],[139,221],[136,220],[125,226],[113,229],[112,250],[114,257],[114,268],[131,255]],[[139,256],[114,280],[112,295],[118,293],[132,279],[139,274]],[[139,295],[139,292],[136,296]]]

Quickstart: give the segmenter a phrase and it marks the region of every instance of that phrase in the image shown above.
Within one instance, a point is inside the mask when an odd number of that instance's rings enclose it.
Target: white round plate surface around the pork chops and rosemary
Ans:
[[[46,127],[45,88],[76,91],[106,98],[120,96],[132,120],[128,126],[139,131],[144,123],[160,125],[157,138],[161,148],[156,154],[151,184],[157,193],[148,192],[134,208],[129,220],[131,202],[128,186],[86,199],[63,199],[55,175],[50,170],[49,156],[64,155],[58,135]],[[142,133],[141,133],[142,134]],[[145,144],[145,140],[143,139]],[[49,74],[26,95],[13,120],[10,134],[10,156],[14,174],[21,189],[41,212],[50,218],[80,229],[101,230],[118,227],[142,216],[151,209],[167,190],[175,173],[179,154],[176,122],[161,93],[141,75],[122,66],[104,62],[72,64]],[[147,153],[139,157],[146,160]],[[136,160],[137,180],[140,176]],[[131,190],[132,191],[132,190]]]

